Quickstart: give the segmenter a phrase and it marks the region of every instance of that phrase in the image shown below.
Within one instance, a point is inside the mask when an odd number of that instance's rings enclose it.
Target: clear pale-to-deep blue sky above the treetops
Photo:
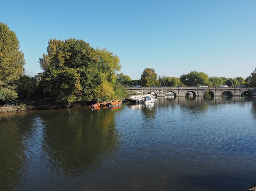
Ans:
[[[256,0],[0,0],[0,22],[16,33],[34,76],[50,39],[81,39],[121,60],[140,79],[191,71],[248,77],[256,68]]]

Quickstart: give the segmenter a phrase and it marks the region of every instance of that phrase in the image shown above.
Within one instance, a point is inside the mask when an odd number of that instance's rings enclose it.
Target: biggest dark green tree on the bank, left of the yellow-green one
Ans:
[[[101,77],[96,75],[99,58],[94,48],[83,40],[50,40],[47,53],[39,59],[45,96],[67,105],[92,99]]]

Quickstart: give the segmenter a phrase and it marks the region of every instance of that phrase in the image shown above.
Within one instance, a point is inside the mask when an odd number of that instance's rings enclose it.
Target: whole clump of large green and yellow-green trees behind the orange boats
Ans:
[[[114,94],[119,57],[94,49],[83,40],[50,40],[39,63],[44,70],[40,87],[45,96],[70,103],[106,99]],[[106,92],[105,90],[108,90]]]

